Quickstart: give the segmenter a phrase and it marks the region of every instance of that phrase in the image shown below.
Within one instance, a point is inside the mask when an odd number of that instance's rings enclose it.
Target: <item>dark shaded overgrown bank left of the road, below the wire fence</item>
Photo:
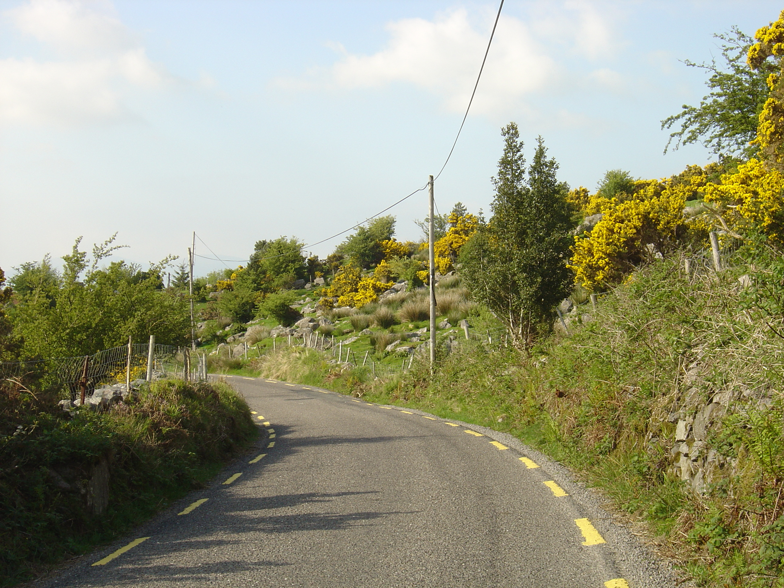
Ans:
[[[256,434],[245,401],[221,383],[159,381],[72,418],[55,397],[0,389],[0,586],[201,488]]]

